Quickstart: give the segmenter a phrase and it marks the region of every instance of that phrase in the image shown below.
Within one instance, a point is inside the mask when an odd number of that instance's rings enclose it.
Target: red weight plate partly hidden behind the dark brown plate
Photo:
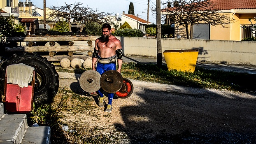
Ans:
[[[126,78],[123,78],[123,86],[122,88],[114,93],[118,98],[128,98],[133,93],[133,83]]]

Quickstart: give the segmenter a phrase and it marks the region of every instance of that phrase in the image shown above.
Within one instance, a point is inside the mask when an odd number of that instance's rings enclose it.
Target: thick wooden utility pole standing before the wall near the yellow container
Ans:
[[[162,66],[161,0],[156,0],[156,65]]]

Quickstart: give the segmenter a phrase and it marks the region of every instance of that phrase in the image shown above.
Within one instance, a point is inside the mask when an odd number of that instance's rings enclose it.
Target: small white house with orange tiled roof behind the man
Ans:
[[[118,24],[119,27],[122,26],[123,23],[127,22],[133,29],[138,29],[144,32],[146,30],[147,20],[141,19],[139,15],[133,15],[133,14],[125,14],[123,12],[122,14],[116,13],[113,17],[112,23]],[[152,24],[151,22],[148,22],[148,24]],[[112,28],[114,29],[114,25],[112,24]]]

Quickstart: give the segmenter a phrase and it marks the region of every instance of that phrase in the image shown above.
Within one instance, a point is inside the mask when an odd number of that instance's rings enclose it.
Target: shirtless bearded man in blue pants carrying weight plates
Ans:
[[[102,36],[95,40],[95,48],[93,52],[92,59],[92,69],[102,75],[107,70],[116,70],[116,59],[118,63],[118,69],[116,71],[121,73],[122,67],[122,46],[119,39],[111,34],[111,26],[105,23],[102,26]],[[96,62],[97,67],[95,68]],[[98,93],[100,94],[99,98],[99,107],[104,107],[104,95],[103,90],[100,88]],[[114,93],[107,93],[108,96],[108,104],[105,112],[112,111],[112,100],[114,97]]]

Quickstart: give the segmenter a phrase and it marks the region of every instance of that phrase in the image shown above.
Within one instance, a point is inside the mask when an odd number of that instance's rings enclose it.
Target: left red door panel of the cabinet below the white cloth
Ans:
[[[19,99],[20,99],[21,87],[17,84],[7,84],[5,108],[9,112],[19,111]]]

